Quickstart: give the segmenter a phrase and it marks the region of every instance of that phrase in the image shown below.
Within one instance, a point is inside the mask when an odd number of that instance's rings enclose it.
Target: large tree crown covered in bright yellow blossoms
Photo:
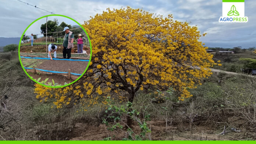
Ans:
[[[139,90],[169,87],[181,92],[179,100],[191,97],[187,89],[210,76],[209,67],[216,63],[198,41],[197,27],[172,18],[130,7],[91,17],[83,25],[92,43],[89,69],[73,86],[54,90],[62,94],[55,104],[85,100],[93,105],[106,97],[126,98],[124,93],[133,102]]]

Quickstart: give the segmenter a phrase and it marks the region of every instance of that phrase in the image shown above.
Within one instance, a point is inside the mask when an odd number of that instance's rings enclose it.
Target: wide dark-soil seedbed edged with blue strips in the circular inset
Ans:
[[[45,69],[48,71],[68,72],[70,69],[72,73],[82,74],[85,71],[87,61],[67,61],[67,60],[39,60],[21,58],[22,65],[28,68]]]

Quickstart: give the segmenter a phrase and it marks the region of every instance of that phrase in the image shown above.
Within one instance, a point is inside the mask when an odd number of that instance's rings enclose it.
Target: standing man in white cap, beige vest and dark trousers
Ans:
[[[71,48],[74,47],[74,33],[71,32],[67,26],[64,28],[63,32],[66,33],[63,39],[63,58],[66,58],[67,55],[67,59],[70,59]]]

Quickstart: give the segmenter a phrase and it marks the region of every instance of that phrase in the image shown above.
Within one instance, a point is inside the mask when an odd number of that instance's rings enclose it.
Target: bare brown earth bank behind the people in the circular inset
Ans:
[[[31,50],[33,53],[45,53],[46,52],[46,46],[21,46],[19,52],[20,53],[31,53]],[[83,46],[83,50],[86,51],[87,54],[90,54],[90,47]],[[47,47],[48,51],[48,47]],[[74,45],[74,48],[71,49],[71,53],[77,53],[77,44]],[[57,53],[63,53],[63,46],[58,46]]]

